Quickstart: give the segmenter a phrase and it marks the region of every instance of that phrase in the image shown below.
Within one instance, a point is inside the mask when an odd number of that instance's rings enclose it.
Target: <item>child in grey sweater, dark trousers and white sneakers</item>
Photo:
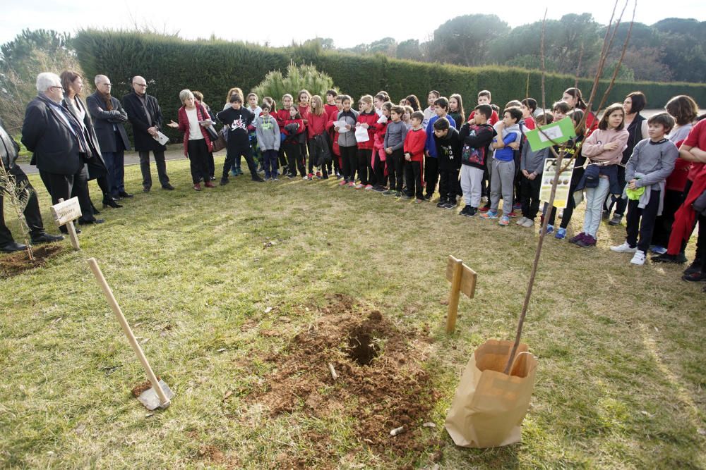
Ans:
[[[650,248],[654,220],[662,214],[664,182],[674,170],[679,151],[664,137],[674,127],[674,118],[659,113],[647,120],[649,139],[640,140],[625,167],[628,197],[627,237],[622,245],[611,247],[618,253],[634,253],[630,263],[642,266]],[[638,235],[639,240],[638,240]]]

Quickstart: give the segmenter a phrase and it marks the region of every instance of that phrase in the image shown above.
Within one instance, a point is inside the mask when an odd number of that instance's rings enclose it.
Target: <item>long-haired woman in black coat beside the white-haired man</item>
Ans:
[[[64,101],[62,101],[61,104],[68,109],[68,111],[71,111],[73,116],[76,116],[78,122],[83,123],[87,137],[86,140],[88,140],[88,144],[94,155],[94,158],[89,159],[86,163],[88,180],[96,180],[96,183],[98,183],[98,187],[100,187],[100,190],[103,192],[103,207],[122,207],[110,196],[110,185],[107,177],[108,170],[100,154],[100,146],[95,135],[95,130],[93,129],[93,123],[88,113],[88,108],[86,108],[79,97],[80,92],[83,90],[83,79],[78,73],[71,70],[64,70],[64,72],[59,75],[59,78],[61,78],[61,86],[64,87]],[[93,212],[94,214],[98,214],[95,207],[93,208]],[[87,221],[79,219],[79,223],[87,223]]]

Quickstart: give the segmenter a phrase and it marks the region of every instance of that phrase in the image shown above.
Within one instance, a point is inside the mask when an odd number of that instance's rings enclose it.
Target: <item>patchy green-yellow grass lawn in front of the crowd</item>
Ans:
[[[143,194],[139,167],[128,167],[136,197],[83,230],[82,252],[66,240],[47,266],[0,280],[0,467],[706,467],[703,284],[681,281],[683,266],[636,267],[610,252],[624,226],[602,225],[594,249],[547,238],[525,324],[539,368],[522,443],[467,450],[445,432],[445,412],[474,349],[513,338],[537,230],[335,180],[241,176],[196,193],[188,161],[169,162],[169,175],[176,191],[156,185]],[[49,197],[36,175],[30,180],[50,226]],[[91,190],[99,203],[95,183]],[[581,221],[582,210],[570,228]],[[462,297],[451,336],[443,332],[448,254],[478,273],[476,297]],[[149,413],[131,396],[145,376],[85,263],[91,256],[176,393],[166,410]],[[371,366],[346,369],[334,341],[325,354],[342,382],[318,388],[330,410],[299,397],[273,414],[273,378],[289,358],[306,362],[301,335],[373,310],[397,331],[407,364],[382,338]],[[376,403],[341,385],[393,357],[404,380],[390,396],[409,398],[407,385],[419,382],[405,376],[413,367],[431,391],[415,398],[425,415],[407,435],[416,446],[395,447],[389,435],[367,443],[357,416]],[[363,390],[380,392],[376,380]],[[426,421],[436,428],[421,428]]]

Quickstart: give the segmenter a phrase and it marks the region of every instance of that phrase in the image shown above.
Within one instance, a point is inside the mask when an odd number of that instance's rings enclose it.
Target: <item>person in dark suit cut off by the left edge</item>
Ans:
[[[30,192],[30,197],[25,206],[25,222],[30,228],[30,239],[32,244],[44,242],[57,242],[64,240],[61,235],[49,235],[44,232],[44,224],[42,224],[42,214],[40,213],[40,204],[30,182],[27,180],[27,175],[22,171],[22,168],[15,163],[18,157],[20,146],[15,142],[5,131],[0,120],[0,161],[5,171],[15,177],[15,183],[21,185],[27,183],[27,190]],[[3,211],[4,203],[4,188],[0,186],[0,252],[18,252],[27,248],[22,243],[17,243],[12,237],[10,230],[5,225],[5,217]]]

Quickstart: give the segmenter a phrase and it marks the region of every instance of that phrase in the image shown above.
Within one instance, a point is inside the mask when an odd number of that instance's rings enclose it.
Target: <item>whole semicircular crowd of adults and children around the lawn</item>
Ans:
[[[201,92],[184,89],[177,122],[164,124],[143,77],[133,78],[133,91],[122,101],[112,97],[107,76],[97,75],[95,87],[84,102],[78,73],[41,73],[22,130],[22,142],[32,151],[32,164],[52,202],[78,197],[82,225],[103,221],[95,217],[99,211],[90,199],[89,180],[96,180],[104,208],[117,209],[121,200],[133,197],[124,187],[124,152],[131,148],[124,124],[129,121],[144,192],[152,187],[150,151],[160,185],[174,189],[164,160],[167,138],[161,130],[166,125],[184,135],[196,191],[217,186],[213,151],[225,147],[220,185],[242,174],[244,157],[254,182],[337,178],[341,187],[415,204],[430,201],[438,191],[436,207],[456,209],[462,199],[460,215],[503,226],[515,219],[516,225],[532,228],[538,217],[539,222],[548,217],[547,233],[560,240],[567,236],[573,210],[585,199],[582,228],[569,242],[592,247],[602,220],[620,225],[625,217],[626,240],[612,251],[633,254],[630,263],[635,265],[644,264],[649,252],[654,262],[686,263],[686,245],[698,223],[696,256],[683,279],[706,280],[706,130],[700,120],[704,116],[698,116],[697,104],[686,95],[645,118],[640,114],[647,104],[642,92],[628,94],[622,104],[611,104],[597,116],[578,88],[566,89],[546,110],[532,98],[509,101],[501,109],[492,104],[491,92],[482,90],[468,115],[460,94],[447,98],[436,90],[422,109],[413,94],[394,104],[381,91],[354,103],[333,89],[324,97],[306,89],[296,98],[285,94],[277,106],[273,97],[244,95],[234,87],[222,110],[213,112]],[[575,137],[532,149],[528,130],[564,118],[572,121]],[[16,143],[4,130],[0,137],[4,166],[26,180],[14,161]],[[570,196],[560,211],[540,202],[545,161],[558,153],[575,163]],[[42,228],[35,195],[25,214],[32,243],[61,239]],[[21,249],[4,223],[0,249]]]

